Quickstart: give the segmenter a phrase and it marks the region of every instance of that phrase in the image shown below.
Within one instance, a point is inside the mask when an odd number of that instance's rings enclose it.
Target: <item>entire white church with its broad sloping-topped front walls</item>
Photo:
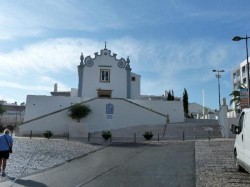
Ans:
[[[167,114],[171,123],[184,122],[182,101],[166,101],[166,96],[141,95],[141,76],[133,73],[130,59],[117,59],[106,48],[95,57],[83,54],[78,65],[78,89],[51,96],[28,95],[24,123],[19,135],[69,134],[83,137],[88,132],[112,130],[139,125],[165,125]],[[76,103],[88,105],[92,112],[80,122],[69,117],[69,108]]]

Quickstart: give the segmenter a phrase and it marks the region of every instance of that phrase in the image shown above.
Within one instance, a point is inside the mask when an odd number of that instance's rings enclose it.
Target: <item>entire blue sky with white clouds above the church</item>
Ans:
[[[218,108],[213,69],[223,69],[221,98],[232,91],[231,70],[246,57],[248,0],[0,0],[0,100],[26,102],[77,88],[80,54],[107,48],[130,57],[141,94],[174,90],[189,102]]]

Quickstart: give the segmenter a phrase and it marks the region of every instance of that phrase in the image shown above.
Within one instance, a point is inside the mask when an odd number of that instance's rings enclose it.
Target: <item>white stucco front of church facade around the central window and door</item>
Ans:
[[[85,65],[83,70],[83,97],[97,97],[97,89],[113,90],[112,97],[127,98],[127,71],[118,67],[118,60],[110,56],[109,50],[102,50],[107,55],[97,55],[93,60],[93,66]],[[90,59],[90,57],[86,57]],[[124,61],[124,59],[121,59]],[[110,82],[100,82],[100,70],[110,70]]]

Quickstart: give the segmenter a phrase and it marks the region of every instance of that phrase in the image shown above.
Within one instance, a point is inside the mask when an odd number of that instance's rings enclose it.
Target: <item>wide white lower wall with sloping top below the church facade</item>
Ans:
[[[32,100],[34,99],[33,97],[29,98],[31,98]],[[70,101],[69,97],[68,103],[75,101],[75,98],[71,99],[72,100]],[[29,99],[27,100],[30,104],[32,104]],[[48,112],[45,109],[49,108],[50,111],[52,111],[50,106],[54,107],[54,109],[57,110],[58,106],[56,108],[55,105],[58,105],[60,103],[59,101],[64,99],[58,98],[58,100],[53,101],[53,99],[51,100],[51,98],[49,97],[42,96],[41,98],[37,98],[36,100],[37,104],[35,106],[37,109],[29,111],[26,119],[34,119],[35,117],[39,117],[37,111],[39,111],[39,113],[43,111],[44,114],[47,114]],[[139,105],[143,105],[144,107],[150,106],[150,108],[152,108],[153,110],[157,110],[157,112],[160,112],[162,114],[168,113],[170,115],[171,122],[184,121],[183,109],[178,109],[178,103],[173,102],[168,105],[166,101],[164,102],[164,104],[161,104],[160,102],[154,102],[155,101],[143,101],[141,103],[137,103]],[[114,106],[113,114],[106,113],[106,104],[109,103]],[[28,134],[31,130],[33,132],[44,132],[45,130],[51,130],[52,132],[54,132],[54,134],[67,134],[68,132],[70,132],[70,136],[78,137],[86,136],[88,132],[93,131],[138,125],[164,125],[166,123],[166,116],[152,112],[149,109],[145,109],[123,99],[94,99],[87,102],[86,105],[90,106],[90,108],[92,109],[92,113],[88,115],[86,119],[82,119],[80,123],[72,120],[68,116],[68,109],[66,109],[59,113],[55,113],[42,119],[38,119],[21,125],[19,134]],[[39,106],[41,108],[39,108]],[[32,107],[33,105],[31,105],[31,109]]]

